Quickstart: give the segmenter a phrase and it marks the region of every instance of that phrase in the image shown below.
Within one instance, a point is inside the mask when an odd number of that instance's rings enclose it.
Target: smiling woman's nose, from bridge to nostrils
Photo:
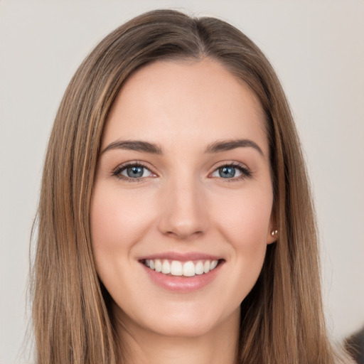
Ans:
[[[161,191],[159,230],[178,240],[203,235],[208,229],[208,211],[203,186],[193,178],[171,181]]]

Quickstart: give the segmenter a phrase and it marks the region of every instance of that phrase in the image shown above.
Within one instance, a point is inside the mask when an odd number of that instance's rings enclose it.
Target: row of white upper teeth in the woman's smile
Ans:
[[[208,273],[218,266],[218,260],[199,260],[194,263],[191,260],[188,262],[180,262],[178,260],[164,259],[146,259],[144,264],[150,269],[154,269],[156,272],[161,272],[163,274],[171,274],[173,276],[184,276],[193,277],[195,274]]]

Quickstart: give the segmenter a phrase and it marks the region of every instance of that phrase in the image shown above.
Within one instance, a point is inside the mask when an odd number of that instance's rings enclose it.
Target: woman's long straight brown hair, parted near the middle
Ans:
[[[92,257],[90,199],[105,119],[127,77],[155,60],[210,58],[246,82],[265,113],[279,240],[241,305],[238,363],[337,363],[328,341],[314,208],[289,105],[267,58],[217,18],[151,11],[110,33],[70,81],[43,170],[33,266],[36,363],[122,361]]]

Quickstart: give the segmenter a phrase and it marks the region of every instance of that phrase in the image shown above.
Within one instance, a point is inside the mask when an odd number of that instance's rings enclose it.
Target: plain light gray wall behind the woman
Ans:
[[[0,0],[0,363],[26,332],[29,235],[60,98],[85,55],[141,12],[223,18],[272,61],[306,150],[334,338],[364,324],[364,1]]]

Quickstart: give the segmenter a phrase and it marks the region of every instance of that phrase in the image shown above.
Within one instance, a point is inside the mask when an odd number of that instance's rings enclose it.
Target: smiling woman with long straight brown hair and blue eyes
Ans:
[[[152,11],[82,63],[38,210],[37,363],[341,363],[277,76],[215,18]]]

